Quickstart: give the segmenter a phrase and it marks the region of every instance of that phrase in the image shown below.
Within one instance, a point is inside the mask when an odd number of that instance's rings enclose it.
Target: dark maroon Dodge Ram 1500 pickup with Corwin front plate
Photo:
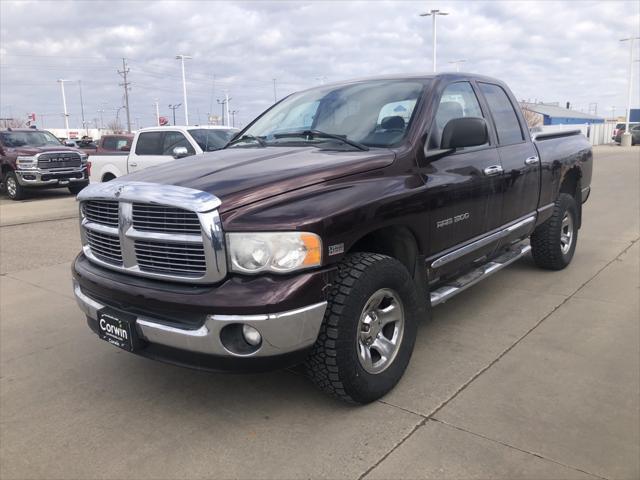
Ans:
[[[367,403],[398,382],[432,307],[529,252],[569,265],[591,172],[583,135],[532,138],[492,78],[324,85],[223,150],[81,192],[74,292],[129,352],[199,369],[302,362]]]

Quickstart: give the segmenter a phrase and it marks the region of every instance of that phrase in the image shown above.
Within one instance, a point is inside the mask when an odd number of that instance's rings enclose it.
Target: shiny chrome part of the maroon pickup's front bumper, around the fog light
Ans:
[[[73,290],[78,305],[97,321],[98,311],[107,307],[84,294],[74,280]],[[264,315],[207,315],[197,330],[171,327],[146,316],[136,318],[138,335],[150,342],[180,350],[226,357],[268,357],[302,350],[313,345],[320,331],[327,302],[296,310]],[[249,354],[234,353],[222,344],[220,332],[229,324],[248,324],[260,332],[262,344]]]

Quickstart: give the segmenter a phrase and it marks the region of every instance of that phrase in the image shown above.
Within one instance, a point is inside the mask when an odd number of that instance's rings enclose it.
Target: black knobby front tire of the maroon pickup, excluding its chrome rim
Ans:
[[[358,342],[365,335],[361,317],[367,302],[380,291],[395,295],[404,314],[403,332],[384,370],[369,373],[359,355],[364,345]],[[409,363],[420,312],[417,288],[404,265],[385,255],[349,255],[338,267],[318,339],[305,362],[307,376],[325,392],[347,402],[379,399],[398,383]],[[388,325],[395,328],[396,324]]]

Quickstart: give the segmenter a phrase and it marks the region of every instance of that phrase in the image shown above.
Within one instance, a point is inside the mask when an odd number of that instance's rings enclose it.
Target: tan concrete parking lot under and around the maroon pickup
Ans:
[[[0,477],[640,478],[640,148],[595,149],[573,263],[525,258],[433,311],[364,407],[101,342],[64,192],[0,201]]]

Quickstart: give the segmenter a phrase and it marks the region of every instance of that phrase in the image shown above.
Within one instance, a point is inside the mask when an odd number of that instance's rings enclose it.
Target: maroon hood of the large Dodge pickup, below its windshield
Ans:
[[[211,193],[220,211],[314,183],[382,168],[393,163],[391,150],[321,150],[315,147],[232,148],[183,158],[125,177]]]

